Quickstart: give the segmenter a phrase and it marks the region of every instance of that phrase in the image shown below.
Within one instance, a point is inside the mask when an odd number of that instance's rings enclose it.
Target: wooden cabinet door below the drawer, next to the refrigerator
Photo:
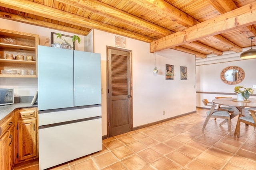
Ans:
[[[36,156],[36,119],[18,121],[18,157],[25,160]]]

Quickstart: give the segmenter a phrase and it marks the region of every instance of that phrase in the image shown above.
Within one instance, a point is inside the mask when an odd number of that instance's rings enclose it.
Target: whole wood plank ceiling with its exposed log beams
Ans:
[[[250,47],[255,16],[256,0],[0,0],[4,19],[85,36],[99,29],[148,42],[152,53],[201,58]]]

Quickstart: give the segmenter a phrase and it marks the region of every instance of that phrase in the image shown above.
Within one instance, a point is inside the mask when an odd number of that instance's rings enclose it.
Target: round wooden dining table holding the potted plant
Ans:
[[[226,106],[234,106],[238,109],[239,114],[244,116],[244,108],[245,107],[256,107],[256,99],[248,98],[247,101],[238,102],[237,98],[219,98],[212,100],[215,104],[221,104]]]

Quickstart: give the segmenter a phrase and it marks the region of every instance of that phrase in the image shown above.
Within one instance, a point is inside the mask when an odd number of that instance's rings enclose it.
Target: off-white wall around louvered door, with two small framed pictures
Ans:
[[[94,52],[101,54],[102,62],[102,135],[107,134],[106,46],[114,47],[114,34],[94,30]],[[155,75],[149,43],[126,38],[125,49],[132,51],[133,127],[196,110],[193,55],[174,50],[156,53]],[[174,80],[165,80],[165,64],[174,65]],[[180,66],[187,66],[188,80],[180,80]]]

